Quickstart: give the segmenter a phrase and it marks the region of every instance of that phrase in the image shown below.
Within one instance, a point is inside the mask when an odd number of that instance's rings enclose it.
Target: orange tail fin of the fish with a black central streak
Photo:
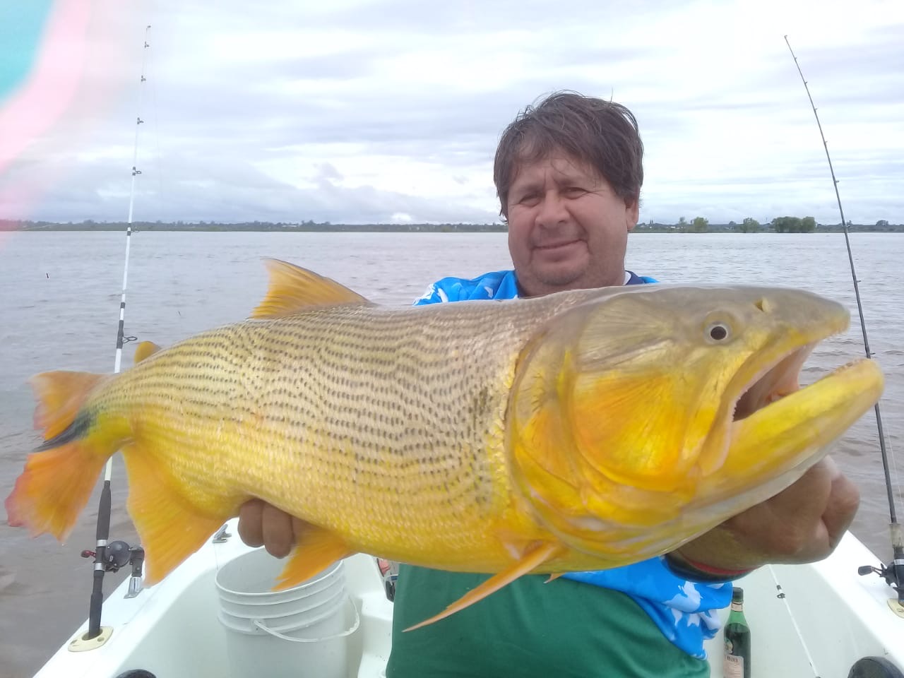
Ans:
[[[107,459],[122,440],[97,426],[83,409],[89,393],[104,379],[89,372],[44,372],[32,385],[38,399],[35,428],[44,443],[25,461],[24,472],[5,501],[10,525],[33,536],[50,532],[65,541],[88,504]]]

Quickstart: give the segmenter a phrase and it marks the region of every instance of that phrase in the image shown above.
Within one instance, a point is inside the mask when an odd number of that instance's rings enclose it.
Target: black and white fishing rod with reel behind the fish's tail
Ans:
[[[122,366],[122,347],[127,342],[135,341],[136,337],[126,336],[126,289],[128,286],[128,254],[132,241],[132,216],[135,207],[135,185],[137,177],[141,171],[137,168],[138,164],[138,130],[144,120],[141,119],[141,102],[143,100],[142,92],[144,84],[147,81],[145,77],[146,54],[147,48],[151,45],[147,42],[148,32],[151,27],[145,28],[145,42],[142,49],[141,57],[141,80],[138,89],[138,111],[139,115],[135,124],[135,143],[132,150],[132,186],[128,196],[128,221],[126,224],[126,258],[122,271],[122,297],[119,299],[119,325],[116,337],[116,359],[113,365],[113,372],[118,373]],[[104,484],[100,490],[100,504],[98,508],[98,524],[97,524],[97,545],[95,551],[82,551],[84,557],[94,557],[94,580],[91,589],[91,598],[88,616],[88,633],[84,636],[84,640],[92,640],[98,638],[101,641],[100,614],[103,608],[103,586],[104,575],[107,572],[116,572],[120,567],[131,563],[132,579],[129,581],[127,598],[137,596],[141,588],[141,569],[144,563],[144,550],[141,547],[130,548],[125,541],[108,541],[110,530],[110,479],[113,476],[113,457],[107,460],[107,466],[104,468]]]

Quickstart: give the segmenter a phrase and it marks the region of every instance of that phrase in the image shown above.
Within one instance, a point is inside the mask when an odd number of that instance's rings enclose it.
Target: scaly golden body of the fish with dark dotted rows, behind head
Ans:
[[[492,542],[490,557],[508,560],[490,519],[511,501],[518,354],[584,297],[248,320],[151,356],[95,405],[127,417],[138,453],[165,450],[196,506],[254,495],[361,551],[452,551],[461,561],[447,564],[469,568]]]

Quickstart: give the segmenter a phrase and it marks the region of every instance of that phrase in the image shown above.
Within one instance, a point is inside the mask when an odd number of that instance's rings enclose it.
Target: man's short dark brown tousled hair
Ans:
[[[518,167],[556,152],[592,167],[625,201],[640,202],[644,144],[634,114],[614,101],[559,91],[524,108],[499,140],[493,181],[506,219]]]

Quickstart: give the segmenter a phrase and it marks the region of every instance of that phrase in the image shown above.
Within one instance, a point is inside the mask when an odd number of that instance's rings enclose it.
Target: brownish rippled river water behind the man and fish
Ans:
[[[881,401],[890,449],[904,438],[904,234],[852,236],[871,349],[886,374]],[[126,238],[118,232],[0,233],[0,497],[38,441],[26,381],[35,372],[111,372]],[[444,276],[473,277],[511,265],[504,233],[139,232],[132,237],[126,334],[167,345],[235,322],[267,287],[262,257],[311,268],[373,301],[407,305]],[[841,233],[635,234],[628,268],[664,282],[805,287],[852,311],[852,329],[817,348],[802,381],[863,354]],[[127,344],[124,366],[131,363]],[[888,560],[888,504],[875,419],[865,416],[835,458],[860,487],[852,532]],[[897,463],[901,463],[898,455]],[[136,540],[127,487],[114,465],[111,539]],[[900,503],[900,482],[893,476]],[[30,676],[87,617],[97,498],[65,546],[33,540],[0,516],[0,676]],[[864,563],[865,564],[865,563]],[[108,578],[109,591],[122,579]]]

